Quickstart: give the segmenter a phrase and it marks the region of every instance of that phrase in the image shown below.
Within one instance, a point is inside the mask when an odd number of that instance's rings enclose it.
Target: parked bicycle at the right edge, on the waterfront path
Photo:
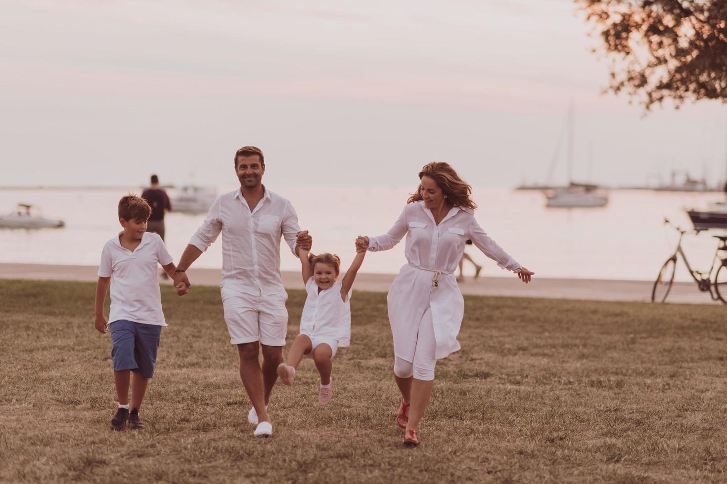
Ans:
[[[712,266],[709,272],[695,271],[689,265],[686,254],[682,250],[681,241],[684,234],[699,234],[699,230],[684,230],[679,226],[675,226],[673,223],[664,218],[664,224],[672,226],[676,231],[679,232],[679,242],[677,248],[674,250],[674,254],[664,262],[662,270],[659,271],[659,276],[654,281],[654,289],[651,290],[651,302],[652,303],[664,303],[667,300],[669,291],[672,289],[674,282],[674,273],[677,264],[677,258],[679,255],[684,260],[686,268],[689,271],[692,279],[696,282],[697,287],[702,292],[709,292],[712,300],[720,300],[727,304],[727,253],[725,258],[720,257],[720,251],[727,252],[727,236],[712,235],[715,239],[719,239],[717,250],[715,250],[715,257],[712,258]],[[712,280],[712,271],[715,270],[715,265],[719,261],[719,266],[715,272],[715,279]],[[706,275],[706,276],[705,276]]]

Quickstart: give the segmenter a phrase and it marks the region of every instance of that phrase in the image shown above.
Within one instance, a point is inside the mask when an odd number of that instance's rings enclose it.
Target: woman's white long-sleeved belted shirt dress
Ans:
[[[521,265],[488,237],[470,208],[452,208],[437,225],[423,201],[409,203],[386,234],[369,237],[369,250],[389,250],[404,235],[407,263],[387,295],[394,353],[406,361],[414,360],[419,323],[427,308],[431,308],[435,357],[445,358],[460,348],[457,334],[465,314],[465,300],[454,270],[465,252],[467,239],[501,268],[514,271]]]

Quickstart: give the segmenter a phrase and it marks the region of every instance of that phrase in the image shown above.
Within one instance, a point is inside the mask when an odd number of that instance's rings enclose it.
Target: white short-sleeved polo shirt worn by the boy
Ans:
[[[156,271],[158,263],[172,263],[172,256],[157,234],[145,232],[133,252],[121,246],[119,235],[103,246],[98,268],[99,277],[111,277],[109,324],[126,319],[166,326]]]

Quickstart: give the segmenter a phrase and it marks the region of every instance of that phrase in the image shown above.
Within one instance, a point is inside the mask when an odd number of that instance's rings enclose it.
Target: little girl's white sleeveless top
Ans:
[[[334,282],[332,287],[318,292],[318,284],[313,276],[305,283],[305,299],[300,316],[300,334],[316,338],[333,338],[339,347],[350,345],[351,340],[351,293],[346,300],[341,298],[342,282]]]

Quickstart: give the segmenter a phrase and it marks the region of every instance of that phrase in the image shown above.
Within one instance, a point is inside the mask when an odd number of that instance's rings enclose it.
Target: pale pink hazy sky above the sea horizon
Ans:
[[[256,144],[268,183],[401,185],[447,160],[513,186],[544,179],[571,99],[579,178],[590,146],[607,184],[725,173],[727,110],[601,95],[570,0],[5,1],[0,31],[0,184],[225,184]]]

